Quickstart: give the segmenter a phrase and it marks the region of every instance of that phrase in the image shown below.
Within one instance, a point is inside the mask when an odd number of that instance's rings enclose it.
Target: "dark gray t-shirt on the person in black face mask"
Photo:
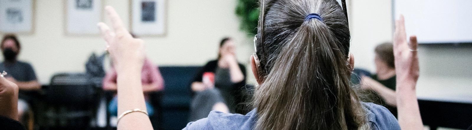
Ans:
[[[34,73],[33,67],[26,62],[16,61],[11,62],[1,62],[0,63],[0,73],[6,71],[7,77],[11,76],[17,81],[27,82],[36,80],[36,73]]]

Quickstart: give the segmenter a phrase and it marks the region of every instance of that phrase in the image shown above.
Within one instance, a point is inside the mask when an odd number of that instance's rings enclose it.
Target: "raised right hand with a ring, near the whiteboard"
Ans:
[[[396,20],[393,51],[395,55],[396,79],[398,83],[416,84],[420,76],[420,67],[417,56],[417,40],[416,36],[410,36],[410,43],[406,40],[405,19],[403,15]],[[403,89],[400,85],[399,89]],[[415,89],[405,88],[405,89]]]

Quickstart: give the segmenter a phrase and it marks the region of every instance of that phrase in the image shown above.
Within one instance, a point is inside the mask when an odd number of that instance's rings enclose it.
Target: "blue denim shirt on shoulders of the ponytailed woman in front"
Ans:
[[[387,108],[373,103],[362,105],[371,130],[400,130],[398,121]],[[253,130],[256,120],[255,109],[246,115],[212,111],[207,118],[190,122],[182,130]]]

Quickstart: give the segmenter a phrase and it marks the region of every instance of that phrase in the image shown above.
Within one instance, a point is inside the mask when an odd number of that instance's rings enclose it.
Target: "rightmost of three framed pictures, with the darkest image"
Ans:
[[[166,0],[130,0],[131,32],[138,36],[166,34]]]

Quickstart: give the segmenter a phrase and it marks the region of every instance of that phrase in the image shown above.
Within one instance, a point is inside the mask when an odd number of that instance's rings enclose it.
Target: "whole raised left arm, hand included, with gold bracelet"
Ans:
[[[144,41],[133,38],[123,26],[115,9],[105,7],[114,31],[104,24],[98,26],[107,42],[107,49],[115,63],[118,86],[118,115],[129,110],[146,111],[141,70],[144,61]],[[153,130],[148,115],[140,112],[128,113],[118,119],[118,130]]]

